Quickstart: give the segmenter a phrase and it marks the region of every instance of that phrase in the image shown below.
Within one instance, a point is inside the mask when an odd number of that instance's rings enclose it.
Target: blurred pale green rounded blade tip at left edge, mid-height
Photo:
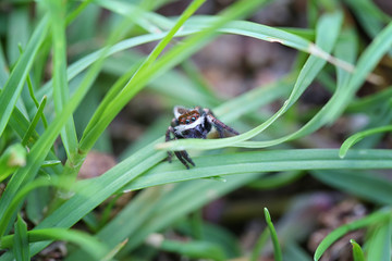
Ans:
[[[7,148],[0,157],[0,182],[26,164],[26,149],[20,144],[11,145]]]

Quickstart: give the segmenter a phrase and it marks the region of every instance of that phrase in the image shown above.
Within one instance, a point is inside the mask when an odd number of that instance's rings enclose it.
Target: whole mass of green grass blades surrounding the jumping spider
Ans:
[[[0,250],[5,251],[0,261],[29,260],[53,240],[76,245],[69,260],[154,259],[157,251],[195,259],[247,258],[238,238],[205,223],[197,211],[244,186],[274,189],[307,175],[375,207],[365,217],[333,229],[314,260],[359,228],[367,233],[363,248],[351,241],[354,260],[389,260],[392,183],[378,170],[392,169],[392,152],[379,147],[391,132],[392,91],[391,83],[373,71],[392,53],[391,17],[370,0],[344,1],[371,39],[368,44],[339,1],[309,1],[307,29],[246,21],[269,4],[266,0],[234,1],[216,15],[197,14],[206,1],[194,0],[179,16],[166,17],[157,10],[168,2],[7,1],[12,9],[0,20]],[[222,34],[279,42],[297,50],[297,61],[279,80],[225,101],[189,60]],[[134,50],[145,44],[155,45],[149,54]],[[328,85],[331,96],[303,115],[301,99],[315,80]],[[366,82],[378,91],[357,96]],[[77,181],[90,150],[110,152],[109,124],[144,90],[164,109],[211,108],[243,132],[224,139],[163,142],[168,109],[115,166]],[[267,110],[271,103],[281,105]],[[318,130],[353,115],[367,121],[347,130],[342,145],[338,139],[340,150],[314,141]],[[167,150],[184,149],[199,151],[196,167],[162,162]],[[118,198],[139,189],[111,219]],[[96,208],[103,209],[100,217]],[[27,227],[21,214],[34,226]],[[309,259],[301,243],[279,243],[280,223],[272,224],[267,208],[265,216],[275,260]],[[82,220],[89,232],[71,228]],[[172,229],[189,240],[170,238]],[[268,231],[259,236],[252,260],[268,252]]]

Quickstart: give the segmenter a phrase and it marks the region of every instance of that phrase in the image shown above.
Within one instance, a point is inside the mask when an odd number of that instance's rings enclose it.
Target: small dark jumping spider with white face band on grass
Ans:
[[[219,134],[220,138],[228,136],[238,135],[238,133],[219,121],[212,114],[209,109],[201,109],[196,107],[194,109],[186,109],[184,107],[174,107],[174,119],[172,120],[167,133],[166,141],[173,139],[183,139],[183,138],[207,138],[207,135],[215,127]],[[170,134],[174,135],[174,138],[171,138]],[[195,166],[195,163],[189,158],[188,153],[185,150],[174,151],[176,158],[183,163],[186,169],[189,169],[187,163],[191,163]],[[171,162],[172,152],[168,151],[168,160]]]

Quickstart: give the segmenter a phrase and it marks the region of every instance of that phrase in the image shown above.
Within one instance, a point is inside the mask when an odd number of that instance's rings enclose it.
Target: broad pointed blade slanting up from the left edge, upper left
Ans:
[[[35,29],[25,52],[16,62],[14,70],[12,70],[4,88],[0,94],[0,104],[2,104],[0,107],[0,137],[10,120],[17,98],[22,92],[28,71],[30,70],[39,47],[48,32],[48,17],[45,16]]]

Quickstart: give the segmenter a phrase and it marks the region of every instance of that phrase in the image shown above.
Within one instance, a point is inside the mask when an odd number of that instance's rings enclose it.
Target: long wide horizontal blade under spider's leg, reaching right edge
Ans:
[[[123,189],[135,190],[173,182],[235,173],[333,169],[371,170],[389,169],[392,165],[392,160],[389,159],[392,153],[388,150],[356,150],[353,152],[347,154],[351,159],[343,160],[338,157],[338,150],[334,149],[294,149],[204,156],[194,158],[197,167],[191,170],[184,170],[179,161],[163,162]],[[186,171],[186,175],[184,175],[184,171]]]

